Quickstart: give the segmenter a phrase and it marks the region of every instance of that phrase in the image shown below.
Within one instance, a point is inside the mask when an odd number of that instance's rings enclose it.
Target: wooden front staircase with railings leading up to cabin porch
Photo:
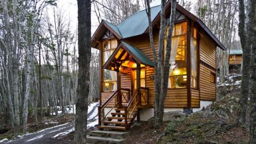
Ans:
[[[132,98],[130,96],[126,97],[126,100],[128,102],[122,102],[122,97],[124,94],[120,94],[119,90],[116,90],[102,104],[102,106],[98,106],[98,128],[99,129],[115,129],[115,130],[127,130],[130,125],[132,125],[132,122],[139,114],[139,108],[148,108],[148,89],[147,88],[141,88],[146,92],[145,94],[141,94],[140,89],[136,90],[134,94],[132,95]],[[126,89],[127,90],[127,89]],[[130,94],[130,92],[128,92]],[[120,96],[121,100],[120,100]],[[143,98],[142,98],[143,97]],[[129,99],[128,99],[129,98]],[[121,101],[121,106],[120,106]],[[143,104],[142,104],[143,102]],[[124,105],[123,105],[124,104]],[[105,114],[104,108],[110,108],[108,112]],[[138,117],[139,118],[139,117]]]

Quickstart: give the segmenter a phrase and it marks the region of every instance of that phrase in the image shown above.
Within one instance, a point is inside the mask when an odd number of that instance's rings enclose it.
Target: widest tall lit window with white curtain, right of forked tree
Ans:
[[[165,40],[166,43],[166,40]],[[166,44],[164,44],[166,46]],[[166,49],[166,48],[164,48]],[[186,88],[187,86],[187,23],[175,25],[172,33],[170,55],[170,76],[168,88]]]

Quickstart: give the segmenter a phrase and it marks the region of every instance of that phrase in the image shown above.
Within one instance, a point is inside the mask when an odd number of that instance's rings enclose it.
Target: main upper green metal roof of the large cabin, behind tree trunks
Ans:
[[[170,7],[170,0],[166,3],[166,9]],[[178,3],[176,4],[176,10],[180,11],[186,17],[191,19],[193,22],[197,23],[199,27],[209,36],[219,48],[222,50],[226,50],[225,46],[221,44],[221,42],[216,38],[213,33],[206,27],[206,25],[201,21],[201,19],[197,18],[195,15],[184,9],[181,5]],[[151,8],[151,19],[152,22],[156,21],[156,19],[160,19],[160,11],[161,11],[161,5],[158,5],[156,7]],[[142,11],[138,11],[131,17],[128,17],[128,19],[122,21],[118,25],[113,25],[112,23],[109,23],[108,21],[102,21],[103,25],[110,30],[118,39],[124,39],[129,38],[132,36],[138,36],[142,35],[147,32],[148,29],[148,15],[146,14],[146,9]],[[100,23],[100,26],[102,25]],[[98,27],[100,29],[101,27]],[[92,36],[92,40],[94,40],[96,33],[100,30],[96,30],[94,35]],[[92,42],[92,46],[94,46],[94,43]]]

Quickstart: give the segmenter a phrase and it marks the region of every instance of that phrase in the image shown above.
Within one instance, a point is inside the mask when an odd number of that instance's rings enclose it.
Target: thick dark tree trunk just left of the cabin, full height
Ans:
[[[86,143],[88,94],[90,84],[91,1],[77,0],[78,5],[78,88],[76,98],[75,143]]]

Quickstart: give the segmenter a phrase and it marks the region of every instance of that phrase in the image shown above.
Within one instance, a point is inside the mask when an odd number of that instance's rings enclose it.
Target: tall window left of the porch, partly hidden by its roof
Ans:
[[[110,58],[111,54],[117,47],[117,40],[105,40],[103,42],[103,64],[106,63],[108,58]],[[104,92],[112,92],[116,90],[116,72],[112,70],[104,70],[103,76],[103,91]]]

